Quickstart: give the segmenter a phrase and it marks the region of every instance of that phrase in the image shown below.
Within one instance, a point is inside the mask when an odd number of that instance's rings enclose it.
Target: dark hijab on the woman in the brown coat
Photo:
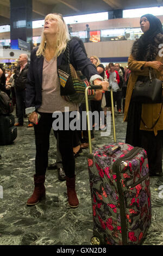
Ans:
[[[134,49],[132,49],[132,54],[136,55],[134,56],[136,57],[136,60],[152,61],[156,57],[156,51],[153,51],[153,47],[158,48],[158,45],[156,45],[156,42],[155,42],[155,38],[158,34],[163,34],[162,24],[161,24],[161,21],[152,14],[145,14],[141,16],[141,18],[142,17],[146,17],[148,19],[150,26],[148,31],[143,33],[140,39],[136,41],[136,47],[138,47],[138,49],[137,49],[137,52],[134,54],[133,54]],[[158,52],[159,52],[159,48],[158,48]],[[148,57],[146,58],[147,55]]]

